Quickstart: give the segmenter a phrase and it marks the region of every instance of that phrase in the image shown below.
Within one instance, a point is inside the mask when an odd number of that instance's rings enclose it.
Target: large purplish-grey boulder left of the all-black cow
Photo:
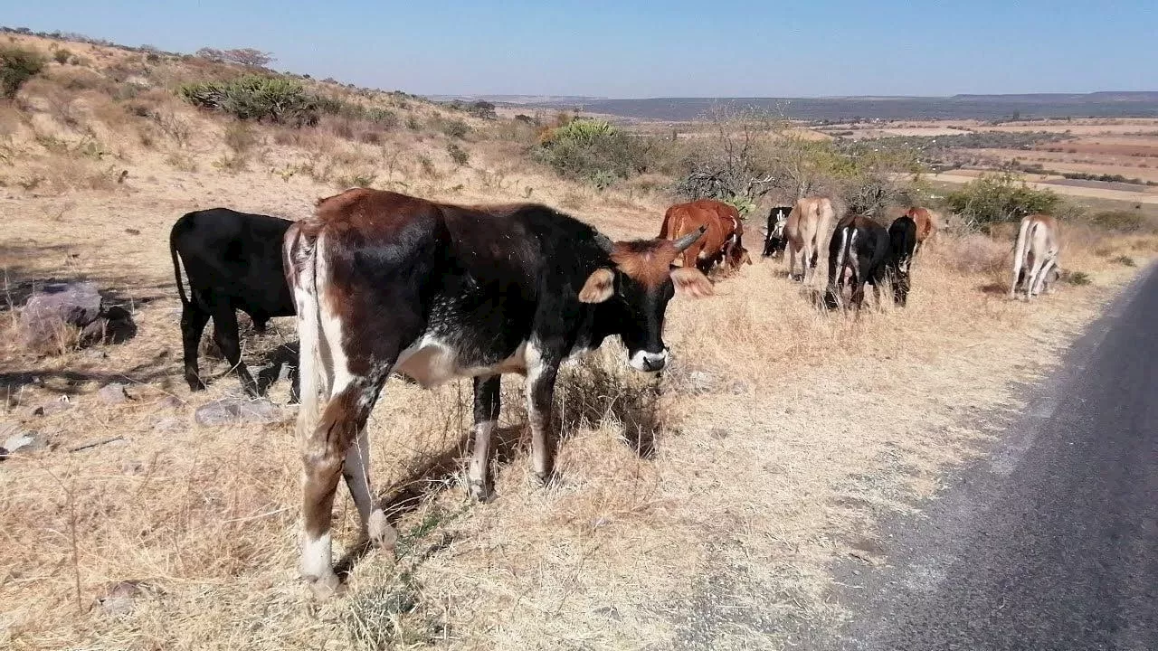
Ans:
[[[101,293],[94,283],[51,283],[34,293],[21,310],[19,330],[24,345],[59,350],[68,328],[85,328],[101,315]]]

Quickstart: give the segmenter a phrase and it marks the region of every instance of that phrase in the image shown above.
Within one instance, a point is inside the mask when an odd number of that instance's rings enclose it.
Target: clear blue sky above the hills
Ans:
[[[0,22],[428,95],[1158,90],[1155,0],[46,0]]]

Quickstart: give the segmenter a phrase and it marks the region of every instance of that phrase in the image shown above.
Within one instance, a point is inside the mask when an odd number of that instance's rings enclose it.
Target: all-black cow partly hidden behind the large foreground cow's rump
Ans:
[[[241,378],[245,393],[258,395],[257,382],[241,360],[235,310],[248,314],[258,332],[274,316],[294,315],[281,264],[281,242],[291,224],[218,207],[186,213],[173,225],[169,253],[181,297],[181,338],[190,390],[205,388],[198,374],[197,348],[213,317],[213,341]],[[189,280],[188,294],[182,266]]]

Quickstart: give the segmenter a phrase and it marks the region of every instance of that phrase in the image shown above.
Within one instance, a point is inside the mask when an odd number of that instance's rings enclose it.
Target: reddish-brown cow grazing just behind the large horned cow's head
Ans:
[[[698,199],[688,204],[676,204],[664,213],[659,236],[675,240],[697,228],[704,227],[704,236],[683,251],[683,266],[699,269],[708,273],[723,262],[728,270],[735,270],[752,256],[743,248],[743,222],[740,211],[723,202]]]

